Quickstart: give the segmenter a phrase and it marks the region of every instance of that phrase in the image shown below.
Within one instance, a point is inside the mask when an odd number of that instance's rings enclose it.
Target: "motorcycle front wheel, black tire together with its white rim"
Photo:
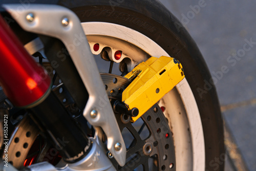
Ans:
[[[212,167],[225,154],[216,89],[213,85],[205,89],[210,80],[206,63],[176,17],[154,0],[59,1],[59,5],[80,18],[94,54],[125,55],[127,72],[151,56],[170,56],[182,63],[185,79],[158,102],[172,131],[176,170],[223,170],[224,164]],[[97,60],[101,72],[103,62]],[[122,62],[114,62],[123,71]]]

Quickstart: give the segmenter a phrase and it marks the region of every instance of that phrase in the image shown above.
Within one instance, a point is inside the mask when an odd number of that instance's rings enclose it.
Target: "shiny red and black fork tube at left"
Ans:
[[[0,82],[7,97],[42,122],[66,161],[81,159],[88,154],[91,141],[51,92],[49,75],[24,49],[2,16],[0,34]],[[61,143],[63,140],[68,143]]]

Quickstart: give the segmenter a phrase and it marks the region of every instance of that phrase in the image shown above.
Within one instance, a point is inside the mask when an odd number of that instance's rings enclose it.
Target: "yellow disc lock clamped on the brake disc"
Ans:
[[[139,110],[138,116],[132,117],[132,122],[135,122],[185,76],[177,59],[161,56],[141,62],[125,77],[133,81],[123,91],[122,102],[129,110]]]

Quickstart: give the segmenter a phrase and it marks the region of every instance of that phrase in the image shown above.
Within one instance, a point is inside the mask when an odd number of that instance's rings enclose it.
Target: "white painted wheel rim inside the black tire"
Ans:
[[[93,39],[94,35],[115,37],[135,45],[150,56],[169,56],[156,42],[133,29],[103,22],[88,22],[81,25],[90,37],[88,40]],[[159,105],[167,102],[172,104],[165,106],[164,114],[173,132],[176,170],[205,170],[202,122],[195,97],[185,78],[160,100]]]

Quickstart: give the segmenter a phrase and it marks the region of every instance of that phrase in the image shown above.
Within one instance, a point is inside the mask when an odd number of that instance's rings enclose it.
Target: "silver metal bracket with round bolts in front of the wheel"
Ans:
[[[123,166],[125,144],[79,18],[71,10],[57,5],[31,4],[24,10],[19,10],[19,6],[3,5],[24,30],[56,37],[65,44],[89,93],[83,115],[90,124],[102,128],[108,137],[109,151]]]

